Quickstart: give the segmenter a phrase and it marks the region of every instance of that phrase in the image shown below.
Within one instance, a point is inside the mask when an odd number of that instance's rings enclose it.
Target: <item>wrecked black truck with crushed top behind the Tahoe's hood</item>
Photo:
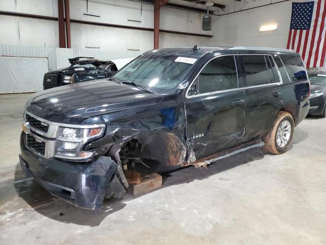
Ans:
[[[68,60],[71,64],[69,67],[44,74],[44,90],[72,83],[110,78],[118,70],[114,62],[101,61],[94,57],[76,57]]]

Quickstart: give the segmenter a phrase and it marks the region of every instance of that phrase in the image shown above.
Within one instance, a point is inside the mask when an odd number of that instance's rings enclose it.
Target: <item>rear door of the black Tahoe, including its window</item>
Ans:
[[[282,104],[281,81],[271,55],[240,55],[246,86],[244,139],[264,137]]]

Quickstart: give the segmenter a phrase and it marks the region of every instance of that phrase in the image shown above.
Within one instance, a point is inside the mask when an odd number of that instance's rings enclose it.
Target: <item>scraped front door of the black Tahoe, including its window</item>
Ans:
[[[186,137],[191,160],[243,141],[246,94],[235,60],[232,55],[211,60],[187,91]]]

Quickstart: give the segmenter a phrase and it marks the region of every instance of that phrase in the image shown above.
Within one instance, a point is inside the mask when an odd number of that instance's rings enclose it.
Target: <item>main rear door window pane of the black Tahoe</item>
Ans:
[[[269,83],[267,66],[263,55],[244,55],[242,60],[246,70],[248,87]]]

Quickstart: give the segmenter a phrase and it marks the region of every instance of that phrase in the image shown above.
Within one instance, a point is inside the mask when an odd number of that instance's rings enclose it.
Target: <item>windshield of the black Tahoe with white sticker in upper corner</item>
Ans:
[[[145,55],[135,59],[114,76],[115,79],[148,87],[155,93],[174,92],[197,59]]]

